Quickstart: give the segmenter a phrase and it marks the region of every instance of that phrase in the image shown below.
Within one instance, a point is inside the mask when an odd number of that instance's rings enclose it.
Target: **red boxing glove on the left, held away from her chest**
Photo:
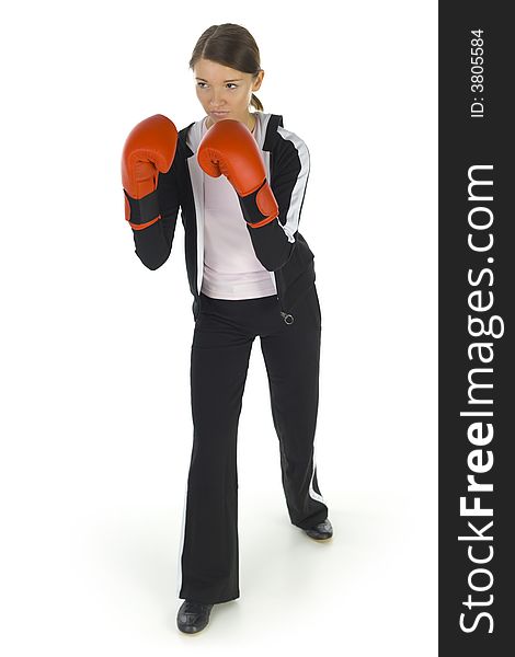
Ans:
[[[161,219],[158,177],[172,165],[176,146],[178,130],[162,114],[140,122],[125,141],[122,154],[125,218],[135,230]]]

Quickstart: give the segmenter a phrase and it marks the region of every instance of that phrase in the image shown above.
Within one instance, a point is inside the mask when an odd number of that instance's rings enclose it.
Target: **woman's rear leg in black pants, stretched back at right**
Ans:
[[[321,337],[314,284],[291,314],[293,324],[285,324],[279,316],[276,330],[261,335],[261,349],[279,439],[286,505],[293,525],[309,529],[328,517],[317,481],[314,454]]]

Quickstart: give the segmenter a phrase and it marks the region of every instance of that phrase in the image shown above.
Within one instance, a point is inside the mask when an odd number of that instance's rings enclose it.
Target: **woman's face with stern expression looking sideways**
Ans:
[[[193,69],[196,94],[210,124],[225,118],[233,118],[247,124],[249,105],[253,91],[258,91],[263,80],[261,70],[255,79],[209,59],[199,59]]]

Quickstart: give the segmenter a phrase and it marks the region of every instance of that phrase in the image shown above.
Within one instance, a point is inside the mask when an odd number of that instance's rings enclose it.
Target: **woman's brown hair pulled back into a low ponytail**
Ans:
[[[192,70],[199,59],[210,59],[237,71],[252,73],[253,78],[261,71],[260,49],[254,37],[245,27],[234,23],[211,25],[203,32],[190,59]],[[255,94],[252,94],[250,102],[259,112],[263,112],[263,105]]]

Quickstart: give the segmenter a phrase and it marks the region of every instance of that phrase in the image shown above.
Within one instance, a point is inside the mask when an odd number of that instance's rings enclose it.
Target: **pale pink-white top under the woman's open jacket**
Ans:
[[[202,136],[207,131],[207,116]],[[252,132],[258,139],[260,122]],[[226,178],[204,173],[204,278],[201,291],[215,299],[254,299],[277,293],[273,274],[258,260],[238,195]],[[255,230],[260,230],[256,228]]]

